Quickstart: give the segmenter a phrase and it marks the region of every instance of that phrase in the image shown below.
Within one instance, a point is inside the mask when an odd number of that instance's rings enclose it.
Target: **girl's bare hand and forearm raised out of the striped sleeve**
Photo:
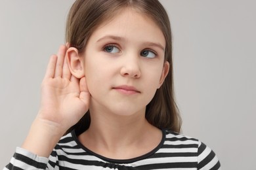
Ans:
[[[51,56],[41,85],[41,106],[22,144],[22,153],[33,154],[35,160],[49,158],[60,137],[89,109],[85,77],[79,80],[70,73],[66,50],[62,45],[58,55]]]

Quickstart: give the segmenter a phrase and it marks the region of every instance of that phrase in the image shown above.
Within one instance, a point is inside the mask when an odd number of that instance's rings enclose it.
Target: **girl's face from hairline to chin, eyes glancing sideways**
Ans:
[[[144,14],[124,9],[101,24],[81,56],[90,112],[144,114],[169,71],[164,54],[163,33]]]

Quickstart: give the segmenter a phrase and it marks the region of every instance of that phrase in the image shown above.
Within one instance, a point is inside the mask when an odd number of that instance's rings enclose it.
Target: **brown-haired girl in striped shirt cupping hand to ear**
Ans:
[[[157,0],[77,0],[66,42],[4,169],[220,169],[210,148],[179,134],[171,29]]]

